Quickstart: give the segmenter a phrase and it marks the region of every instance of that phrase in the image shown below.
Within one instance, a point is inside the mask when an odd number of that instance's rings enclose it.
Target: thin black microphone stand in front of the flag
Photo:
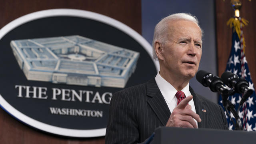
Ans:
[[[222,104],[228,114],[228,117],[232,120],[235,126],[235,130],[242,130],[242,122],[238,113],[236,112],[235,106],[232,104],[232,102],[230,102],[230,100],[228,100],[228,96],[233,95],[234,90],[229,90],[228,93],[226,92],[220,92],[220,93],[222,95]],[[232,112],[233,116],[236,119],[236,123],[234,122],[234,120],[232,119],[228,111]]]

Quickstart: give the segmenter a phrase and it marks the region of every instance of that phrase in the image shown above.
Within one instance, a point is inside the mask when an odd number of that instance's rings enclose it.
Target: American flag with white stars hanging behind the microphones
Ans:
[[[236,20],[238,19],[240,20],[240,22],[242,22],[241,18],[237,18]],[[241,26],[240,38],[237,34],[237,31],[233,30],[232,48],[231,48],[230,56],[229,56],[225,71],[232,72],[238,75],[240,78],[245,78],[249,82],[249,87],[252,90],[254,90],[253,94],[246,100],[246,102],[244,102],[244,105],[241,106],[238,112],[238,115],[241,118],[242,126],[244,130],[256,131],[256,95],[255,95],[254,84],[252,83],[251,74],[249,72],[248,64],[243,51],[244,49],[243,49],[243,40],[242,40],[243,38],[242,26]],[[244,71],[242,69],[244,69]],[[230,100],[232,104],[234,104],[237,110],[241,98],[242,98],[242,94],[236,93],[233,96],[229,96],[228,100]],[[221,96],[219,96],[219,104],[223,107]],[[225,114],[226,114],[226,111],[225,111]],[[236,122],[233,114],[230,113],[230,115],[233,118],[234,122]],[[227,114],[226,114],[226,118],[228,120],[229,129],[234,130],[235,126],[230,120],[230,118],[227,116]]]

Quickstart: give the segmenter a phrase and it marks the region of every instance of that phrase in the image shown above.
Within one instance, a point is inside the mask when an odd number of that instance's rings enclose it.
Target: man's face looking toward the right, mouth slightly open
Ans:
[[[167,38],[162,48],[164,69],[178,78],[194,77],[202,55],[202,33],[198,25],[188,20],[172,21]]]

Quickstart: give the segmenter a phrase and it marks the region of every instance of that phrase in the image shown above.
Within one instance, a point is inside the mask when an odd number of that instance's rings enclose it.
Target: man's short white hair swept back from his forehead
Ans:
[[[155,42],[158,40],[161,44],[165,44],[167,42],[167,30],[168,30],[168,24],[172,20],[188,20],[196,23],[199,26],[199,22],[196,18],[196,16],[192,16],[191,14],[188,13],[176,13],[176,14],[171,14],[169,16],[166,16],[163,18],[158,24],[156,24],[155,30],[154,30],[154,37],[152,41],[152,47],[153,47],[153,58],[157,60],[156,52],[155,52]],[[200,28],[200,26],[199,26]],[[203,34],[202,28],[201,32]]]

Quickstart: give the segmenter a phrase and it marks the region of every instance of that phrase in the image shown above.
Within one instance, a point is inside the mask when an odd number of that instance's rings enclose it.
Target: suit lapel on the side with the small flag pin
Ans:
[[[200,116],[202,120],[202,122],[198,122],[198,128],[206,128],[208,122],[208,106],[206,106],[202,98],[200,98],[191,87],[189,87],[189,90],[193,96],[196,113]]]

